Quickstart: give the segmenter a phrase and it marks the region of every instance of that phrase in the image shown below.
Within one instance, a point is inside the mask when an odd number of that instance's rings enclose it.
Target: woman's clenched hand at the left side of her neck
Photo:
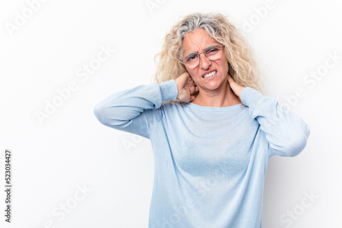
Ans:
[[[192,94],[194,94],[194,92],[198,92],[198,87],[192,77],[190,77],[189,73],[185,72],[181,74],[179,77],[174,79],[174,81],[176,81],[178,88],[177,99],[185,103],[194,101],[196,97]]]

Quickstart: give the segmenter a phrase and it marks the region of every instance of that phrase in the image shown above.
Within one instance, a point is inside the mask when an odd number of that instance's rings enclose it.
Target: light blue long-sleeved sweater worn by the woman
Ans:
[[[118,92],[94,110],[104,125],[150,139],[148,227],[262,227],[269,157],[298,155],[308,125],[252,88],[241,92],[246,106],[163,103],[176,97],[172,79]]]

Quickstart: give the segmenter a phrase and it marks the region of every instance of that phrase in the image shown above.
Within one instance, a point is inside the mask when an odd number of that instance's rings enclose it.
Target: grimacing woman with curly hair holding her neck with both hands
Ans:
[[[166,36],[159,84],[96,105],[101,123],[152,143],[149,227],[262,227],[269,157],[298,155],[309,128],[257,91],[258,75],[226,17],[191,14]]]

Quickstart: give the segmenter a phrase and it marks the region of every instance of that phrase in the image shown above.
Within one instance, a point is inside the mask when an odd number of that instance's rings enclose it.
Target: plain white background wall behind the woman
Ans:
[[[5,149],[12,150],[13,183],[10,224],[0,193],[1,227],[147,227],[150,142],[101,125],[93,108],[114,92],[150,84],[164,36],[193,12],[227,14],[246,31],[265,74],[265,94],[311,127],[300,155],[269,162],[264,227],[341,227],[342,3],[274,0],[258,14],[266,2],[49,0],[30,14],[27,1],[1,1],[1,189]],[[11,31],[18,14],[27,19]],[[77,72],[96,61],[101,47],[115,51],[82,81]],[[333,62],[329,53],[340,57]],[[311,71],[324,73],[313,81],[306,76]],[[36,113],[72,81],[77,89],[40,123]]]

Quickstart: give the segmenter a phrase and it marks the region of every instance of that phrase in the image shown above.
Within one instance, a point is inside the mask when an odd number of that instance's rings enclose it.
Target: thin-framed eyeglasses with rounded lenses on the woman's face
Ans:
[[[211,45],[207,47],[205,51],[202,51],[200,53],[192,52],[184,54],[181,62],[183,62],[183,64],[187,68],[195,68],[196,66],[198,66],[198,64],[200,64],[200,54],[202,53],[205,53],[205,57],[207,57],[208,60],[218,60],[223,54],[223,47],[224,45]]]

